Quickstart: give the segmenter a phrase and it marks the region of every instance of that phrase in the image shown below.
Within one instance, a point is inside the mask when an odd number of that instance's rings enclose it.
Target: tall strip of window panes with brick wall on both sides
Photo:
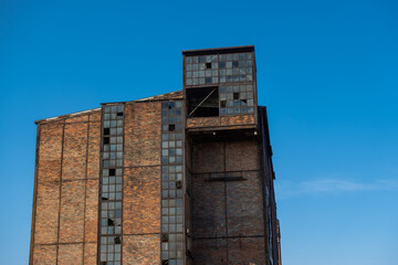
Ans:
[[[100,264],[122,264],[124,105],[103,108]]]

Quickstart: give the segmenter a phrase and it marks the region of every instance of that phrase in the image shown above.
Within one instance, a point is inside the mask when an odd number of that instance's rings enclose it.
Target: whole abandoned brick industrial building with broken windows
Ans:
[[[182,91],[35,121],[30,264],[281,264],[254,46],[182,59]]]

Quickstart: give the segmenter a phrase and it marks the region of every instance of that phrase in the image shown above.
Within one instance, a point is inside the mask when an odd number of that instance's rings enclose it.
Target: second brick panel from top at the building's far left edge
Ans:
[[[57,242],[59,208],[60,184],[49,181],[39,182],[34,229],[35,244],[54,244]]]

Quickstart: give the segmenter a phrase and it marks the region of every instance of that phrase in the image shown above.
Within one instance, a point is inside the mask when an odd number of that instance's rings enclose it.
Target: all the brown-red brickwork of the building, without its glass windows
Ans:
[[[184,106],[184,93],[119,103],[124,265],[172,265],[163,257],[161,104],[174,100]],[[184,264],[281,264],[266,113],[254,109],[181,121]],[[36,121],[32,265],[104,264],[98,255],[102,115],[93,109]]]

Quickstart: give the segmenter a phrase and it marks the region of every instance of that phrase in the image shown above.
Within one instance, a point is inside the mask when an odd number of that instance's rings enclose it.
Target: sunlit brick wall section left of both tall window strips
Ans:
[[[38,125],[30,264],[96,264],[100,117]]]

